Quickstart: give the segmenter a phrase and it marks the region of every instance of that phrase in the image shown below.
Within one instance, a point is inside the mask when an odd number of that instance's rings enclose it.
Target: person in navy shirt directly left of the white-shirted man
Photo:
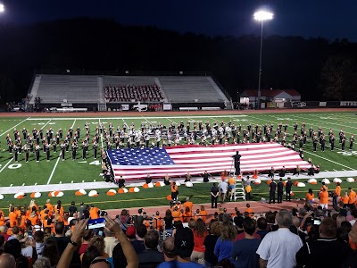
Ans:
[[[236,261],[236,267],[258,267],[258,255],[256,251],[261,243],[261,239],[254,238],[255,222],[251,218],[245,218],[243,222],[245,239],[234,242],[231,256]]]

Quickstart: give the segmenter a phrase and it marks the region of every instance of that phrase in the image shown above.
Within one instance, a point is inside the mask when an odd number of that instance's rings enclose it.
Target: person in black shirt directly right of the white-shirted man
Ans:
[[[320,238],[307,242],[296,253],[296,262],[303,267],[341,267],[350,255],[350,248],[345,242],[336,239],[337,224],[332,218],[322,220],[319,228]],[[333,252],[333,258],[321,257],[326,252]]]

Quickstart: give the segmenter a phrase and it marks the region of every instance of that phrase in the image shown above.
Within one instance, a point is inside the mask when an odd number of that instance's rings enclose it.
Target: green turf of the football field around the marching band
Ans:
[[[22,114],[21,114],[22,115]],[[26,116],[26,113],[23,115]],[[100,115],[100,113],[98,113]],[[40,127],[44,127],[46,130],[49,127],[52,127],[55,131],[58,130],[59,127],[62,127],[63,134],[65,134],[70,127],[79,127],[82,129],[81,137],[84,136],[84,124],[87,121],[91,126],[91,135],[93,135],[95,130],[95,125],[99,124],[99,122],[103,122],[104,125],[108,125],[109,121],[112,121],[114,128],[125,121],[128,125],[131,122],[134,122],[135,125],[138,127],[142,121],[145,122],[154,122],[157,124],[158,122],[162,122],[164,125],[168,125],[170,122],[179,122],[184,121],[185,125],[187,120],[191,121],[207,121],[209,120],[211,124],[214,121],[233,121],[236,125],[242,124],[243,128],[245,128],[249,123],[252,123],[254,126],[256,123],[262,125],[264,123],[273,123],[274,129],[279,122],[283,124],[287,122],[289,125],[288,133],[292,134],[293,132],[293,124],[297,122],[300,125],[303,121],[306,123],[306,128],[309,129],[312,125],[314,130],[317,130],[319,126],[322,127],[325,134],[328,134],[328,130],[332,129],[336,135],[336,150],[331,152],[329,147],[327,147],[325,152],[320,152],[318,147],[317,152],[312,152],[312,144],[311,141],[308,140],[308,143],[303,147],[305,159],[311,157],[312,162],[317,164],[320,163],[321,171],[351,171],[357,170],[357,149],[356,145],[354,145],[353,152],[350,152],[348,149],[345,152],[342,152],[340,149],[340,145],[338,144],[338,131],[343,128],[346,134],[346,138],[350,138],[352,133],[356,133],[357,131],[357,121],[355,113],[259,113],[259,114],[235,114],[235,115],[224,115],[224,116],[217,116],[217,115],[207,115],[207,116],[163,116],[163,117],[145,117],[145,113],[137,113],[136,117],[119,117],[120,113],[118,113],[117,117],[112,118],[62,118],[61,114],[54,114],[53,119],[51,118],[26,118],[26,117],[19,117],[19,118],[0,118],[0,187],[9,187],[10,185],[13,186],[21,186],[23,183],[26,185],[34,185],[37,183],[46,184],[49,181],[50,184],[54,183],[71,183],[73,182],[92,182],[102,180],[102,177],[99,175],[101,172],[101,166],[95,165],[93,159],[93,152],[92,147],[89,147],[89,152],[87,154],[87,163],[81,160],[81,150],[78,151],[78,159],[77,161],[71,161],[71,152],[67,153],[66,161],[58,161],[59,149],[57,149],[57,153],[51,153],[51,161],[49,163],[45,160],[45,154],[41,154],[41,161],[36,163],[34,161],[35,156],[30,155],[29,163],[24,163],[23,158],[24,154],[19,155],[20,162],[19,164],[15,164],[12,161],[12,155],[7,152],[6,146],[6,133],[8,132],[11,137],[13,137],[13,128],[16,127],[18,130],[21,130],[22,127],[26,127],[28,130],[32,130],[34,127],[37,130]],[[76,116],[75,114],[73,116]],[[12,138],[13,139],[13,138]],[[290,142],[291,138],[287,139],[287,142]],[[328,146],[328,142],[327,142]],[[348,148],[348,142],[346,142],[346,148]],[[57,163],[57,165],[56,165]],[[56,166],[55,166],[56,165]],[[55,168],[54,168],[55,166]],[[18,167],[18,168],[16,168]],[[200,186],[202,188],[203,186]],[[183,189],[184,190],[184,189]],[[186,190],[186,189],[185,189]],[[192,195],[196,195],[198,198],[197,202],[206,202],[208,201],[207,197],[199,197],[208,195],[209,188],[202,188],[195,192],[195,189],[189,189],[190,191],[194,191]],[[264,193],[267,191],[267,188],[264,188],[263,185],[260,187],[253,188],[253,193],[256,197],[261,197],[261,192]],[[1,189],[0,189],[1,192]],[[85,202],[90,202],[91,200],[95,200],[95,202],[104,202],[102,203],[101,207],[103,208],[114,208],[114,207],[133,207],[133,206],[147,206],[147,205],[164,205],[167,204],[166,196],[169,194],[170,190],[163,191],[162,189],[151,189],[151,191],[141,191],[137,194],[128,194],[128,195],[120,195],[115,197],[107,197],[104,195],[106,190],[99,190],[102,193],[100,197],[96,199],[90,197],[74,197],[71,194],[67,194],[61,199],[64,203],[70,203],[71,200],[75,200],[77,203],[80,200]],[[182,195],[185,192],[181,193]],[[190,193],[188,193],[190,194]],[[265,194],[262,194],[263,196]],[[69,197],[70,196],[70,197]],[[126,196],[126,197],[124,197]],[[43,197],[45,200],[46,197]],[[121,201],[122,198],[135,198],[138,200],[129,200],[129,201]],[[154,198],[150,199],[150,202],[147,201],[140,201],[143,198]],[[158,199],[155,199],[158,198]],[[201,198],[201,199],[200,199]],[[6,201],[8,200],[8,201]],[[27,199],[25,199],[27,200]],[[25,201],[23,200],[23,201]],[[39,202],[41,202],[40,199]],[[6,202],[14,202],[17,203],[18,201],[12,199],[12,197],[5,197],[5,200],[1,201],[1,206],[6,206]],[[108,201],[108,202],[106,202]],[[115,201],[115,202],[109,202]]]

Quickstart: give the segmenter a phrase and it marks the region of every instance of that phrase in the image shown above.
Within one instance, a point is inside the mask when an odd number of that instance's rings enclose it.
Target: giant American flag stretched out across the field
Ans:
[[[163,178],[166,173],[170,177],[234,171],[232,155],[242,155],[240,168],[242,172],[276,170],[283,166],[294,169],[311,167],[303,161],[297,152],[278,143],[125,148],[107,151],[112,163],[115,179],[123,176],[125,180],[144,179],[147,174],[152,178]]]

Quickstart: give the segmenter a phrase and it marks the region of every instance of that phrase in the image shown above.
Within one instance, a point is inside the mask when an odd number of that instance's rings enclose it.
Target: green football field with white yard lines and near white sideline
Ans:
[[[183,121],[185,126],[187,121],[210,121],[211,125],[217,121],[224,121],[228,123],[231,121],[236,126],[241,124],[242,129],[245,129],[248,124],[252,124],[254,127],[256,124],[262,126],[263,124],[273,124],[273,130],[277,129],[279,123],[283,125],[287,123],[288,128],[288,137],[286,143],[291,142],[292,134],[294,133],[293,125],[298,124],[298,132],[301,128],[301,124],[305,122],[306,129],[312,126],[313,130],[317,131],[319,127],[323,129],[323,132],[327,136],[327,148],[325,152],[320,151],[320,145],[318,145],[318,150],[313,152],[311,139],[308,138],[307,144],[303,146],[303,155],[305,160],[311,158],[313,164],[320,164],[321,172],[354,172],[354,179],[357,179],[357,145],[353,145],[353,150],[349,149],[349,138],[353,133],[357,133],[357,115],[355,112],[330,112],[330,113],[235,113],[228,115],[214,114],[211,115],[169,115],[169,116],[145,116],[145,113],[136,113],[136,116],[120,116],[120,113],[115,113],[113,116],[100,116],[101,113],[96,113],[96,116],[80,116],[76,117],[76,114],[71,114],[71,117],[62,117],[60,113],[53,113],[48,117],[41,117],[41,114],[38,113],[36,117],[26,117],[26,113],[19,113],[19,117],[1,117],[0,118],[0,194],[4,195],[4,200],[0,201],[0,206],[5,208],[9,203],[20,202],[13,198],[13,193],[16,193],[18,189],[22,189],[25,193],[31,193],[34,189],[38,188],[38,191],[41,191],[42,197],[40,200],[46,200],[47,194],[53,190],[62,190],[64,196],[61,198],[65,200],[64,203],[71,202],[74,200],[76,202],[100,202],[101,207],[103,208],[114,208],[114,207],[131,207],[131,206],[145,206],[148,205],[147,200],[150,201],[150,205],[164,205],[167,204],[166,197],[170,193],[170,189],[165,189],[164,191],[160,188],[152,188],[140,190],[138,193],[132,193],[128,195],[116,195],[114,197],[108,197],[105,195],[108,188],[115,188],[114,185],[108,184],[106,187],[93,188],[96,189],[100,196],[94,199],[93,197],[76,197],[74,192],[78,190],[77,187],[82,183],[83,185],[89,186],[101,182],[103,184],[102,178],[102,168],[101,162],[98,158],[94,159],[93,149],[91,147],[92,137],[95,133],[95,127],[99,124],[108,126],[110,122],[114,127],[114,130],[118,126],[122,126],[123,123],[126,123],[128,126],[134,124],[137,129],[140,128],[141,123],[154,124],[157,125],[162,123],[165,126],[168,126],[170,123],[179,123]],[[161,113],[162,114],[162,113]],[[77,159],[71,161],[71,149],[70,152],[66,153],[65,161],[61,161],[60,157],[60,148],[57,147],[57,152],[51,151],[50,161],[46,162],[46,155],[41,150],[40,161],[37,163],[35,161],[35,155],[29,155],[29,163],[24,161],[24,153],[19,155],[18,163],[15,163],[13,160],[13,155],[9,153],[6,136],[9,135],[12,140],[13,131],[19,130],[22,138],[21,130],[26,128],[31,134],[32,130],[36,128],[39,130],[42,128],[44,133],[46,130],[52,128],[54,134],[57,130],[62,128],[63,136],[67,133],[69,128],[72,126],[73,130],[79,127],[81,129],[79,145],[81,144],[82,138],[85,135],[85,123],[88,123],[90,126],[90,146],[87,152],[87,160],[83,160],[81,157],[81,149],[77,153]],[[336,148],[334,151],[331,151],[328,144],[328,131],[332,130],[336,136]],[[345,151],[341,149],[341,145],[338,143],[338,132],[340,129],[343,129],[346,137]],[[183,143],[183,141],[181,141]],[[104,147],[104,140],[99,140],[99,147]],[[41,146],[42,148],[42,146]],[[341,176],[341,178],[343,175]],[[62,187],[61,187],[62,185]],[[72,185],[72,187],[71,187]],[[37,187],[38,186],[38,187]],[[345,185],[346,186],[346,185]],[[354,183],[351,184],[354,187]],[[41,188],[40,188],[41,187]],[[45,188],[44,188],[45,187]],[[197,188],[183,189],[182,194],[187,192],[187,195],[192,195],[197,198],[199,202],[202,200],[208,200],[209,188],[208,185],[201,185]],[[11,189],[16,190],[11,190]],[[43,191],[41,189],[46,189]],[[89,189],[88,189],[89,190]],[[88,191],[87,190],[87,191]],[[305,193],[307,189],[302,189]],[[267,192],[267,188],[257,187],[254,189],[264,196]],[[181,191],[180,191],[181,192]],[[21,203],[28,203],[29,196],[21,200]],[[26,200],[26,201],[25,201]],[[39,203],[41,203],[40,201]],[[121,202],[121,204],[120,204]]]

